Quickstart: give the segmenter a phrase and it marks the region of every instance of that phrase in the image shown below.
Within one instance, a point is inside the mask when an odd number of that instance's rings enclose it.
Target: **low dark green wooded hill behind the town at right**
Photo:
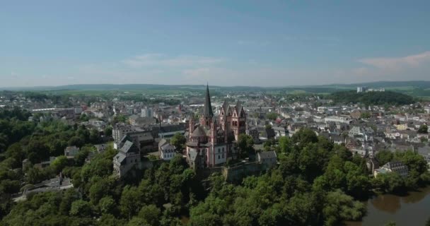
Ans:
[[[350,90],[332,93],[328,98],[335,102],[364,105],[409,105],[414,103],[414,97],[393,91],[356,93],[355,90]]]

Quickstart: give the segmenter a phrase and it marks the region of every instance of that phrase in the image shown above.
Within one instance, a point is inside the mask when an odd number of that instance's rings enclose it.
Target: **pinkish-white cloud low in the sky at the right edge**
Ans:
[[[379,57],[359,59],[359,62],[374,66],[378,69],[388,71],[398,71],[407,68],[416,68],[430,62],[430,51],[421,54],[409,55],[406,57]]]

